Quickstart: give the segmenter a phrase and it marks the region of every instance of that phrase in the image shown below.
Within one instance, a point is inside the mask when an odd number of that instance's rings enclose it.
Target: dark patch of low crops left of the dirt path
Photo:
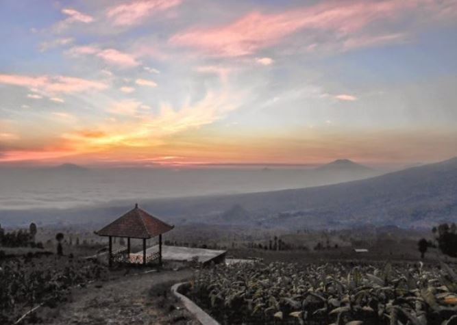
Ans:
[[[106,278],[107,272],[92,261],[66,257],[0,261],[0,324],[14,323],[42,302],[54,307],[71,287]]]

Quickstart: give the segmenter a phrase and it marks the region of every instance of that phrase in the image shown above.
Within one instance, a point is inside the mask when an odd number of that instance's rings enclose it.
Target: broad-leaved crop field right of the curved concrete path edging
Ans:
[[[184,290],[221,324],[457,322],[457,275],[445,264],[217,265]]]

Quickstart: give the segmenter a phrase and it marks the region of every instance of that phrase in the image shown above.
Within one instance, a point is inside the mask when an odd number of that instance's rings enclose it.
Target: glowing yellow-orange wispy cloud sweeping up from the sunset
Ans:
[[[180,107],[162,103],[159,113],[152,116],[149,106],[134,99],[112,103],[108,112],[134,119],[114,118],[97,130],[83,130],[64,134],[64,138],[78,153],[109,151],[111,148],[162,146],[171,135],[198,129],[223,118],[238,107],[238,101],[226,92],[208,92],[203,99]],[[143,112],[145,111],[145,112]]]

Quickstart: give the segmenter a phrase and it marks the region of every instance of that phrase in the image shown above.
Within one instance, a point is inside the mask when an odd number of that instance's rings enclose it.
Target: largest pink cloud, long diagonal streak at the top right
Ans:
[[[455,0],[445,2],[454,3]],[[373,21],[395,19],[407,10],[437,15],[443,8],[431,0],[326,1],[274,14],[251,12],[228,25],[188,29],[175,34],[169,42],[194,47],[210,55],[249,55],[301,29],[330,31],[337,38],[349,38],[361,33]]]

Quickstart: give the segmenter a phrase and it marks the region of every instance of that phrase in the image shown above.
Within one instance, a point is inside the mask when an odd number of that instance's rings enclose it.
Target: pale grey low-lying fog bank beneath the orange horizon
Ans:
[[[362,167],[362,166],[361,166]],[[0,209],[69,208],[121,199],[263,192],[351,181],[368,168],[0,168]]]

